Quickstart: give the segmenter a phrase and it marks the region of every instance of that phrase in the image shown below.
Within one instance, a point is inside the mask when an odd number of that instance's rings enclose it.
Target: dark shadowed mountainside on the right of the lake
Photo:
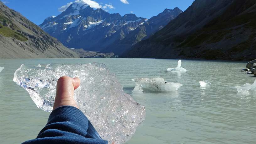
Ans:
[[[255,59],[255,1],[195,0],[124,57]]]

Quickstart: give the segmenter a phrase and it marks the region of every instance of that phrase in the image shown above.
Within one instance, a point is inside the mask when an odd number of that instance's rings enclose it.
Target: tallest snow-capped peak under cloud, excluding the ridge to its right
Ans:
[[[146,21],[135,14],[110,14],[79,2],[71,4],[56,17],[46,18],[40,27],[69,48],[100,51],[122,40]]]

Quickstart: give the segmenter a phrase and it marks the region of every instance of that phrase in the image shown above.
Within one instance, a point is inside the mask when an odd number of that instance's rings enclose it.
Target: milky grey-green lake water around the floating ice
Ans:
[[[29,93],[13,82],[21,64],[104,63],[126,93],[146,107],[146,120],[127,144],[255,144],[256,93],[237,93],[235,86],[253,83],[240,72],[245,62],[183,60],[183,74],[167,72],[178,60],[168,59],[0,59],[0,143],[34,139],[50,113],[38,109]],[[176,93],[132,93],[136,77],[163,77],[181,83]],[[208,80],[210,88],[200,88]]]

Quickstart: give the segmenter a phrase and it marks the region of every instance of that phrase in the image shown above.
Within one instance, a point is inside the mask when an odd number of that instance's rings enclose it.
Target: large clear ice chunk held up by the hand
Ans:
[[[41,67],[21,65],[13,81],[26,89],[38,108],[51,112],[59,77],[79,77],[81,85],[74,97],[99,135],[109,143],[131,139],[145,120],[145,107],[124,93],[122,86],[104,64],[50,64]]]

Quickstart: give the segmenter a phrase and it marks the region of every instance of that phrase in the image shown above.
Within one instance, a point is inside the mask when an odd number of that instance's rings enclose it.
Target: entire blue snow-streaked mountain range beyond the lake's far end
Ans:
[[[135,14],[110,14],[78,0],[60,15],[45,19],[40,27],[69,48],[120,55],[136,42],[163,28],[181,12],[179,8],[166,9],[148,20]]]

